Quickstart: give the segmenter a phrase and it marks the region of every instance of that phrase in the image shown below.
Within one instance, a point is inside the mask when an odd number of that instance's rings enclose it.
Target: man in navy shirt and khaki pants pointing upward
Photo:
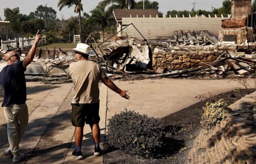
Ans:
[[[29,121],[29,113],[26,105],[26,67],[32,62],[37,49],[37,44],[41,39],[39,30],[35,36],[35,41],[31,47],[27,58],[20,61],[19,55],[15,51],[7,52],[4,55],[7,66],[0,75],[0,83],[4,89],[4,115],[7,120],[7,135],[10,148],[4,151],[5,155],[14,155],[12,162],[17,163],[25,154],[19,152],[19,142],[25,132]]]

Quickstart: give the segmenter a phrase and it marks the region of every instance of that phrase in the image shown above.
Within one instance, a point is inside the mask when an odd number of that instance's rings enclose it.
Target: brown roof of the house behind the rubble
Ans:
[[[113,9],[114,17],[117,20],[122,20],[123,17],[157,17],[158,9]]]

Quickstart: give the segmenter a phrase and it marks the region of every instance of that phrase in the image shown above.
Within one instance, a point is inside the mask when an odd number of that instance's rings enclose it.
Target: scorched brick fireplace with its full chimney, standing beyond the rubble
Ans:
[[[254,42],[255,15],[251,0],[232,0],[230,19],[222,20],[219,42],[243,44]]]

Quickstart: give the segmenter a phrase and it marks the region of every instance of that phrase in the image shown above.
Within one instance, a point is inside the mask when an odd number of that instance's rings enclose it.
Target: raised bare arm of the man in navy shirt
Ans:
[[[35,41],[33,43],[33,46],[29,50],[29,53],[27,54],[27,58],[23,60],[24,68],[26,68],[33,61],[35,57],[35,51],[37,50],[37,44],[40,39],[41,39],[41,35],[39,34],[39,30],[38,30],[37,34],[35,35]]]

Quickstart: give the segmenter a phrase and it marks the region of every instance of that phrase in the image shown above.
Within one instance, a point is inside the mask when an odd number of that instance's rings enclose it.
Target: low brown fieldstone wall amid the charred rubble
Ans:
[[[218,56],[219,54],[214,51],[159,51],[153,53],[152,62],[154,69],[157,67],[167,67],[169,70],[182,70],[204,66],[203,63],[209,64],[217,59]]]

